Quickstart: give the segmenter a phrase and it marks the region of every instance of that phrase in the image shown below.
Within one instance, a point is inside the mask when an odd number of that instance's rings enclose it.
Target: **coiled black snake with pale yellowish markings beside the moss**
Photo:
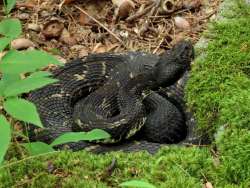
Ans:
[[[180,41],[161,56],[91,54],[58,67],[52,71],[58,82],[29,93],[45,128],[28,126],[28,136],[50,143],[66,132],[100,128],[110,133],[112,144],[80,141],[66,145],[96,153],[154,153],[164,144],[178,143],[188,131],[183,87],[193,58],[191,42]]]

